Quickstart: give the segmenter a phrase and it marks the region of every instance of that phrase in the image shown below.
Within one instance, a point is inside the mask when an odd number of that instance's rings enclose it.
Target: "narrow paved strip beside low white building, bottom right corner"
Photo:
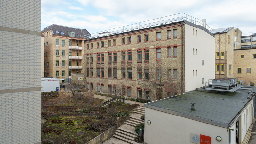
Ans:
[[[245,135],[242,144],[256,144],[256,116],[252,120],[252,124]]]

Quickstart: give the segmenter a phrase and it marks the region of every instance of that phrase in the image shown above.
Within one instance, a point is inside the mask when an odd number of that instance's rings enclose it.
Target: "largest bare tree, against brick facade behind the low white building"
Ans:
[[[166,97],[182,93],[184,82],[181,75],[175,69],[165,69],[162,67],[150,67],[148,70],[149,80],[142,85],[148,88],[148,95],[152,99],[160,100]]]

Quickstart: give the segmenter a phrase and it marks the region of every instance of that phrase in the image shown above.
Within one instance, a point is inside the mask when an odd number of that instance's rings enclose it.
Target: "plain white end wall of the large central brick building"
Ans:
[[[193,35],[194,28],[194,35]],[[196,36],[197,30],[197,36]],[[195,50],[193,54],[193,48]],[[197,49],[197,55],[196,55]],[[215,38],[202,29],[185,24],[185,91],[199,88],[215,78]],[[202,66],[202,60],[204,65]],[[194,70],[194,76],[193,76]],[[197,76],[196,76],[197,70]],[[202,84],[204,78],[204,84]]]

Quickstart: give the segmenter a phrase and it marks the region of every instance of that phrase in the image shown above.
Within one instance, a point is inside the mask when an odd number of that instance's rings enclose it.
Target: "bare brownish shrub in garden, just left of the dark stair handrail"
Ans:
[[[91,104],[94,99],[93,99],[93,96],[94,96],[94,92],[93,91],[87,91],[86,88],[83,88],[81,92],[79,92],[79,97],[81,97],[82,99],[82,107],[83,107],[83,110],[85,110],[86,106],[88,104]]]

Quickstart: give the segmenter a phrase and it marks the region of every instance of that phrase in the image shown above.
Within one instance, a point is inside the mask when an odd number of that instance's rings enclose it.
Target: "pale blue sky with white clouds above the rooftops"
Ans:
[[[177,13],[212,28],[256,32],[255,0],[42,0],[42,30],[58,24],[96,33]]]

